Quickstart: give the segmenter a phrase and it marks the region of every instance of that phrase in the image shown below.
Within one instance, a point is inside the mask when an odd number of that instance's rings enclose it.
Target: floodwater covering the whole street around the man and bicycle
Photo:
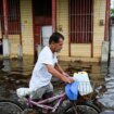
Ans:
[[[28,87],[35,61],[31,56],[23,60],[0,61],[0,99],[17,100],[16,89]],[[114,110],[114,60],[107,67],[106,63],[84,63],[81,61],[63,62],[61,66],[73,76],[74,73],[86,71],[93,84],[93,89],[100,88],[98,94],[92,93],[89,99],[97,98],[104,106],[103,110]],[[52,79],[54,92],[64,91],[64,84],[56,78]],[[106,113],[103,113],[106,114]]]

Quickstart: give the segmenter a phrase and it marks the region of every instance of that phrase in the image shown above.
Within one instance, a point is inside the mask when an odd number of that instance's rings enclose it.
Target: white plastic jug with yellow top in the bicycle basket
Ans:
[[[88,73],[86,72],[74,73],[73,78],[79,83],[78,90],[80,96],[85,96],[93,92],[93,89],[91,87],[91,84],[88,77]]]

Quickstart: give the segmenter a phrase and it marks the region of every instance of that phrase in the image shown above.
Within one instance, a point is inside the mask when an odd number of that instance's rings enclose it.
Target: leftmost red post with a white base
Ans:
[[[3,0],[3,18],[4,18],[4,35],[3,35],[3,56],[9,58],[10,55],[10,43],[8,36],[8,1]]]

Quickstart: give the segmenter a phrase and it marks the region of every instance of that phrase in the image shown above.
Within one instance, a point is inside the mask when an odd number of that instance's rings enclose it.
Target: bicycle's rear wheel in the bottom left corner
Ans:
[[[0,100],[0,114],[21,114],[23,106],[15,101]]]

